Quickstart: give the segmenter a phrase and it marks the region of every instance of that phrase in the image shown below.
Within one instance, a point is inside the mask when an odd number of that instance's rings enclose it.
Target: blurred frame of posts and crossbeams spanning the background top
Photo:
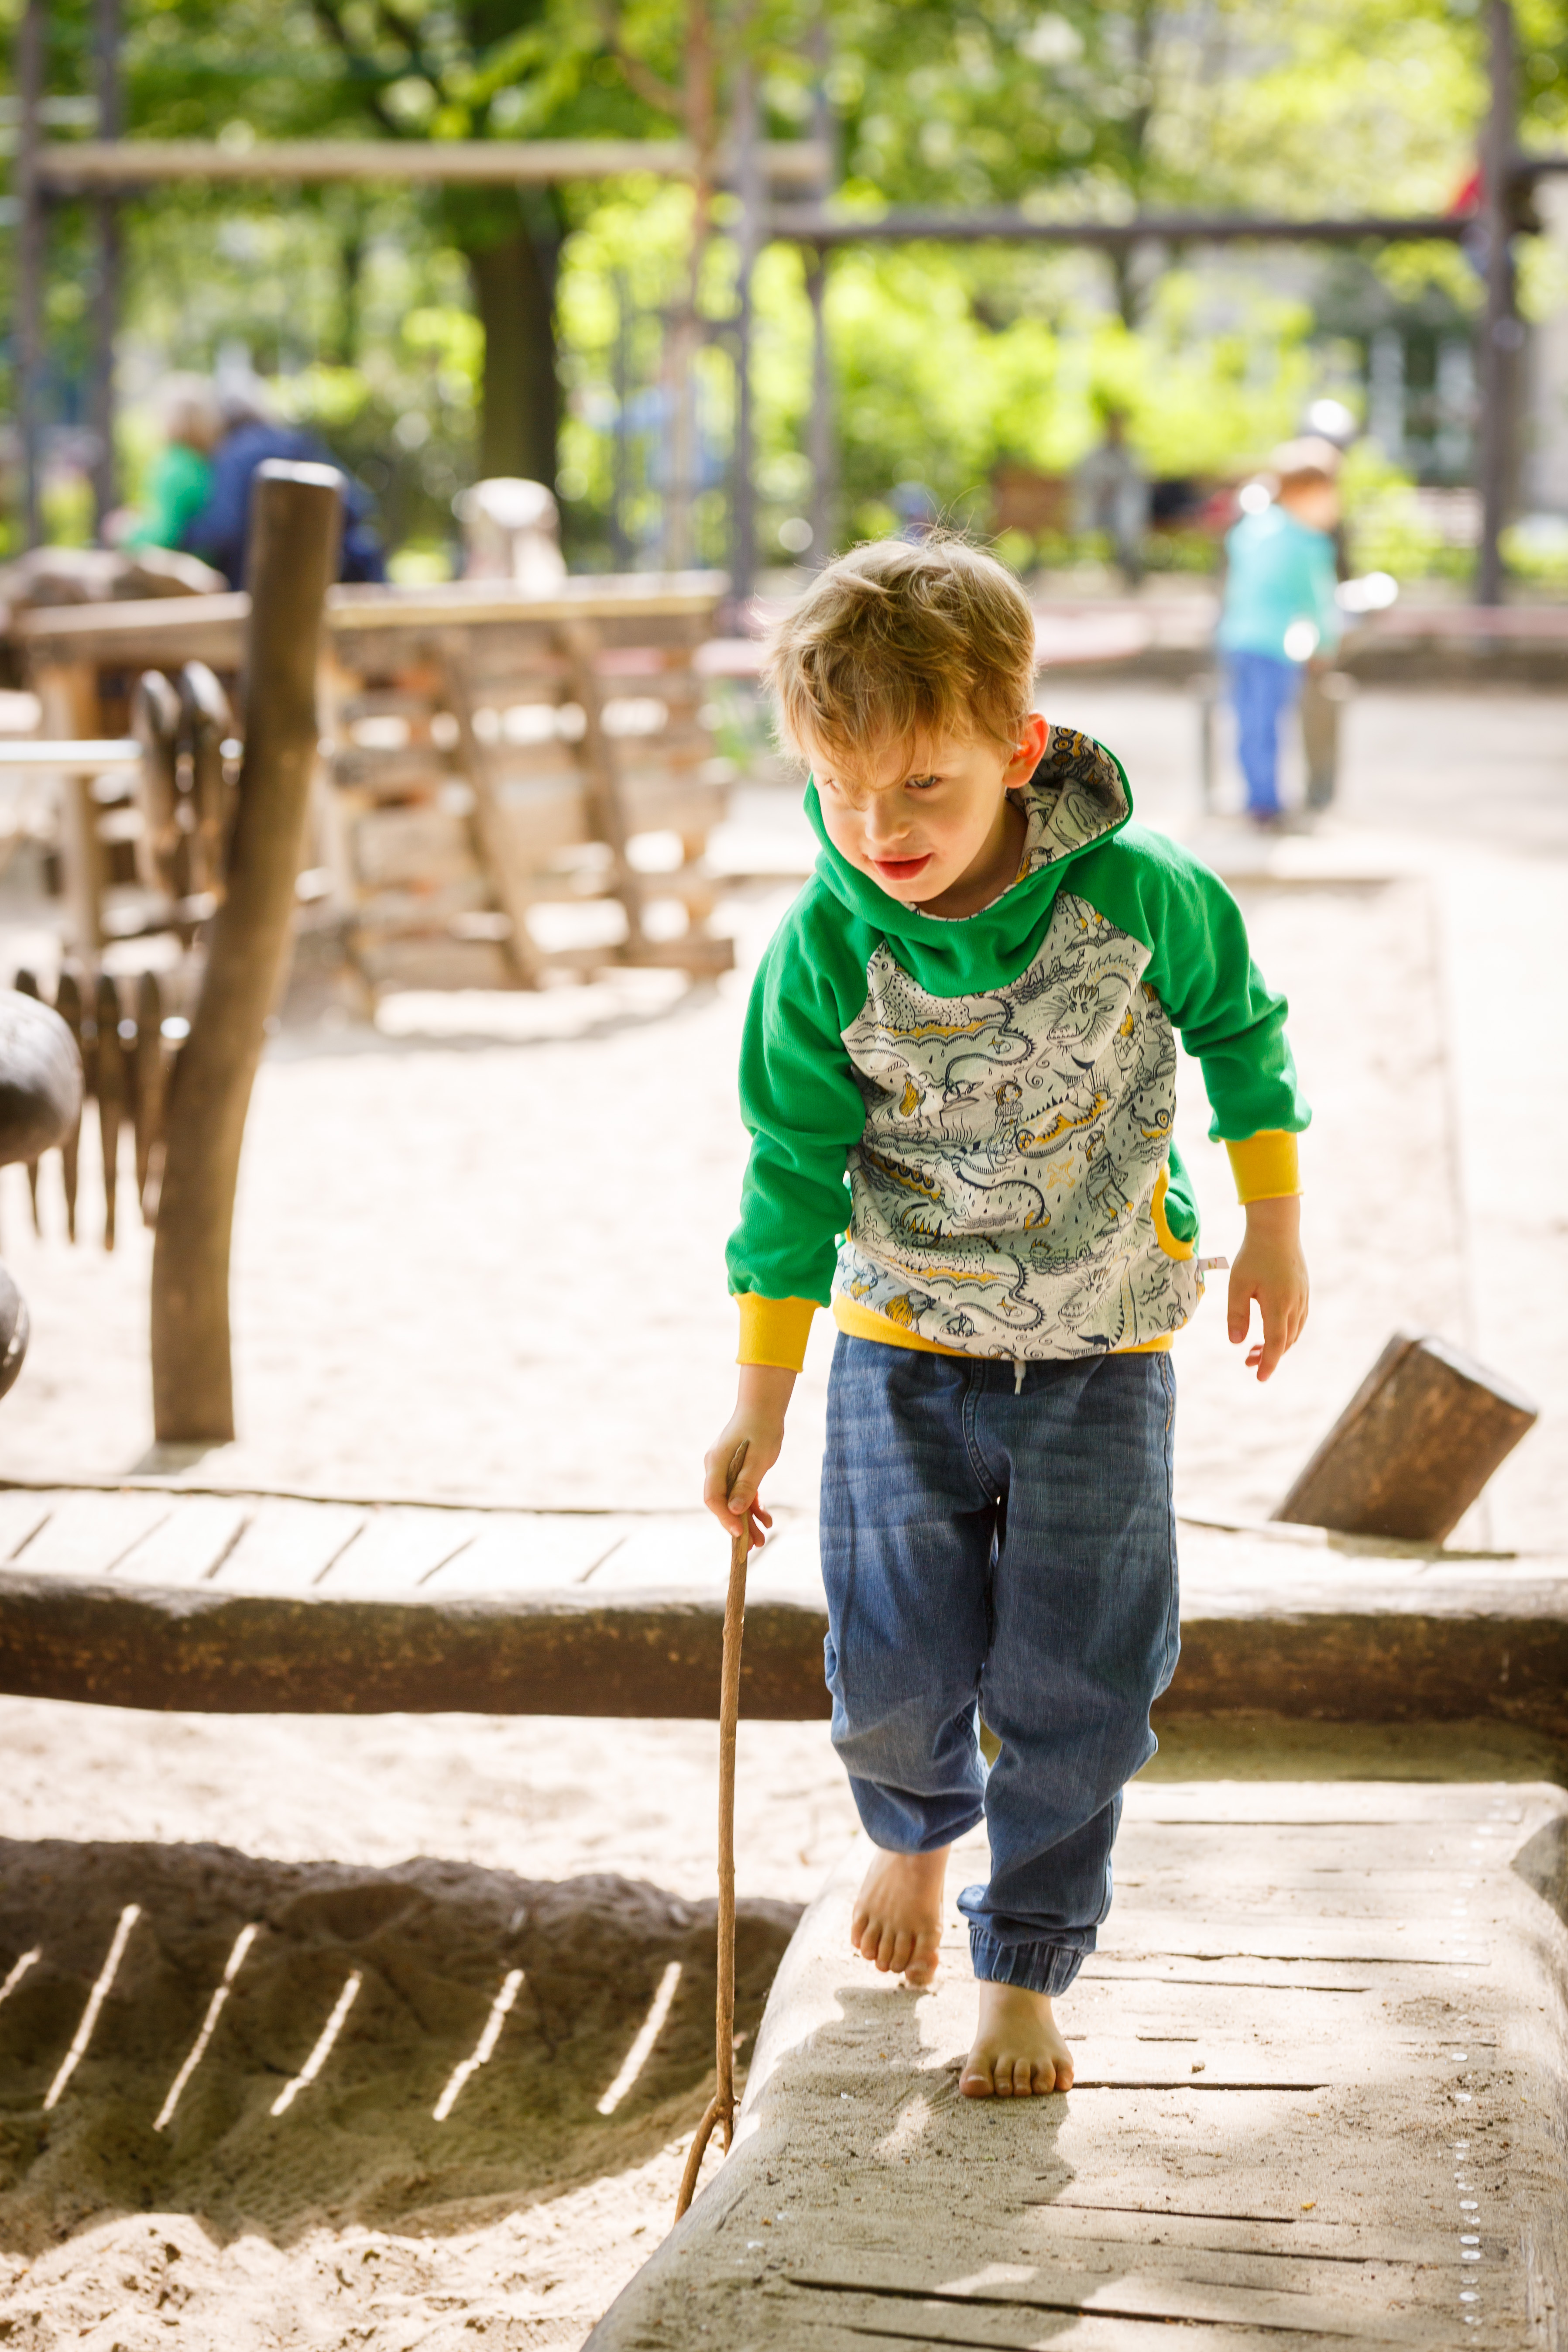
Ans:
[[[122,132],[120,0],[94,0],[96,139],[42,136],[45,0],[26,0],[19,54],[19,426],[24,454],[24,522],[28,546],[40,536],[40,379],[47,212],[52,202],[87,200],[99,245],[94,310],[92,423],[99,440],[99,515],[113,506],[113,355],[120,301],[118,205],[139,188],[169,181],[320,183],[336,179],[404,183],[538,186],[602,179],[637,169],[708,181],[726,179],[741,205],[736,230],[736,447],[731,456],[731,583],[736,602],[752,593],[757,569],[752,477],[752,273],[771,240],[790,240],[806,256],[813,315],[811,473],[813,543],[830,546],[832,395],[825,339],[825,263],[835,247],[863,242],[1072,245],[1103,252],[1140,247],[1307,242],[1378,245],[1446,240],[1472,252],[1486,275],[1479,322],[1481,386],[1481,536],[1476,604],[1502,602],[1500,539],[1509,522],[1516,470],[1519,353],[1523,325],[1516,299],[1514,242],[1535,228],[1530,193],[1568,155],[1523,153],[1519,146],[1516,26],[1512,0],[1486,0],[1488,111],[1481,127],[1481,167],[1474,205],[1436,216],[1291,219],[1246,214],[1133,214],[1124,221],[1051,221],[1023,209],[931,212],[891,207],[875,219],[839,214],[832,205],[832,143],[825,99],[818,96],[818,136],[769,143],[759,136],[759,99],[748,61],[736,75],[729,143],[698,153],[691,141],[292,141],[268,148],[226,148],[219,141],[139,141]],[[802,191],[804,202],[776,202],[776,191]]]

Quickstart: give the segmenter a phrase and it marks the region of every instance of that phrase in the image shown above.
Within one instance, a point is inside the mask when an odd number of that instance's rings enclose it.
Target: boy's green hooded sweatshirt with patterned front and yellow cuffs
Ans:
[[[1018,880],[950,922],[849,866],[806,788],[816,875],[741,1049],[743,1362],[799,1364],[830,1296],[844,1329],[959,1355],[1168,1345],[1204,1287],[1171,1143],[1175,1030],[1241,1197],[1298,1188],[1286,1002],[1225,884],[1131,823],[1091,736],[1053,727],[1018,800]]]

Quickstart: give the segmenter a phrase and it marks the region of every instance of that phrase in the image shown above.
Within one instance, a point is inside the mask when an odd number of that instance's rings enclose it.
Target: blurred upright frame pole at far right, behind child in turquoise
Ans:
[[[1514,289],[1514,9],[1488,0],[1490,103],[1481,134],[1481,216],[1486,223],[1486,313],[1481,320],[1481,548],[1476,604],[1502,604],[1502,529],[1514,496],[1514,395],[1523,325]]]

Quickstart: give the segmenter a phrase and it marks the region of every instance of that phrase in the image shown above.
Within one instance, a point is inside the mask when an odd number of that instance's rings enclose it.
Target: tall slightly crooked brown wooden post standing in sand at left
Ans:
[[[263,463],[252,489],[244,762],[228,889],[179,1056],[153,1244],[153,1428],[160,1444],[235,1435],[228,1242],[266,1016],[294,920],[315,767],[315,663],[339,569],[343,477]]]

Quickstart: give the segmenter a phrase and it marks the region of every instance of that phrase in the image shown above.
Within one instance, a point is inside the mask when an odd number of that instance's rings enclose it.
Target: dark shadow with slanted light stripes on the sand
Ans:
[[[741,1905],[738,2034],[795,1919]],[[0,2249],[451,2234],[635,2166],[708,2093],[712,1950],[712,1903],[609,1875],[0,1842]]]

